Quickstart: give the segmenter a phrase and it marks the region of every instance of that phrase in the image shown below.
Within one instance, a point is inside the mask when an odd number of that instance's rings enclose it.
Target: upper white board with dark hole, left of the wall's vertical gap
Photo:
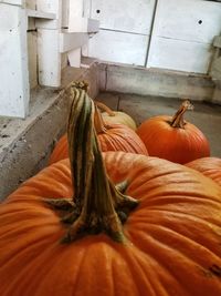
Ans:
[[[99,20],[102,29],[149,34],[155,1],[92,0],[91,18]]]

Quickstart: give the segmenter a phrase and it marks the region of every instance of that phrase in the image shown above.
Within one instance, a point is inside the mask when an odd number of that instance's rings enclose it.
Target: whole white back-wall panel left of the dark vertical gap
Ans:
[[[156,0],[86,0],[84,13],[99,20],[99,32],[83,50],[104,61],[145,65]]]

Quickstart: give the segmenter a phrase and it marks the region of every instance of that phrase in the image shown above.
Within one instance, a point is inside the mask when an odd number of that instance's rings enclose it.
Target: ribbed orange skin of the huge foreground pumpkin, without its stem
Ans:
[[[60,244],[66,233],[42,197],[72,196],[69,161],[25,182],[0,207],[1,296],[221,295],[221,188],[193,170],[108,152],[115,182],[140,200],[124,231]]]

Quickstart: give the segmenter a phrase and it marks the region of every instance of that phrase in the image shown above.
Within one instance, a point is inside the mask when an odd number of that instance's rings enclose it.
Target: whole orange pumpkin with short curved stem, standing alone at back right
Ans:
[[[186,110],[192,105],[185,101],[175,116],[154,116],[137,129],[150,156],[185,164],[210,156],[209,142],[193,124],[183,120]]]

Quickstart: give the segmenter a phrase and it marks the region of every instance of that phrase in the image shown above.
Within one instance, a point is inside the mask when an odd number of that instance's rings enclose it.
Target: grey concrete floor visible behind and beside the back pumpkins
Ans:
[[[113,110],[128,113],[137,124],[155,115],[173,115],[180,100],[122,93],[99,93],[97,100]],[[192,102],[193,111],[187,111],[185,119],[200,129],[210,142],[211,156],[221,157],[221,106]]]

